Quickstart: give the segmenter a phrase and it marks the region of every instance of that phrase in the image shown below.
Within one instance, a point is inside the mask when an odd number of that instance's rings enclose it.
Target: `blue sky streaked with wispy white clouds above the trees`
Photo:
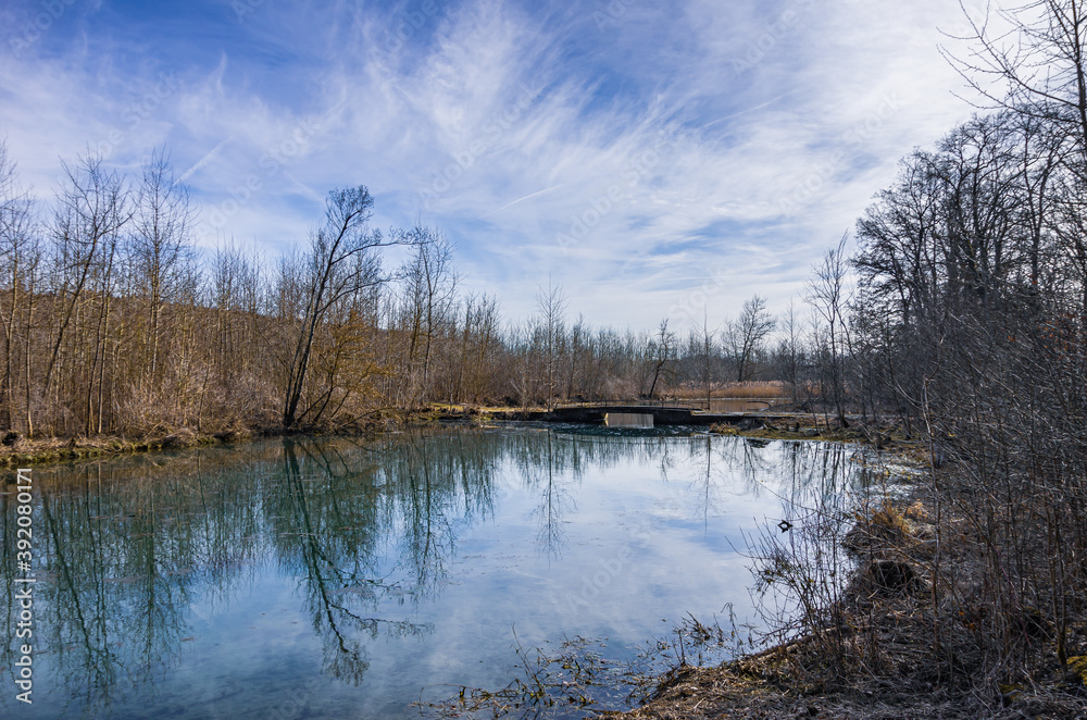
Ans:
[[[549,277],[600,325],[780,310],[973,110],[948,0],[7,0],[0,28],[0,135],[39,195],[88,147],[164,146],[198,244],[274,256],[364,184],[510,320]]]

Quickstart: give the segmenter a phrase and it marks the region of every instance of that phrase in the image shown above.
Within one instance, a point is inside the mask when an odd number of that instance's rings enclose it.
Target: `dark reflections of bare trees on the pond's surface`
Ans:
[[[536,498],[535,543],[551,562],[562,556],[586,471],[632,458],[660,468],[675,512],[703,521],[726,511],[737,492],[789,499],[813,481],[840,492],[846,464],[846,452],[827,445],[790,445],[782,472],[734,438],[566,429],[288,438],[42,468],[34,514],[42,682],[88,715],[153,694],[182,665],[195,608],[214,616],[274,570],[297,582],[323,673],[357,685],[375,641],[433,632],[405,618],[451,582],[458,538],[495,518],[498,486],[513,479]],[[13,504],[13,494],[0,495],[8,587],[22,574]],[[17,613],[5,593],[8,628]],[[7,637],[10,668],[18,641]]]

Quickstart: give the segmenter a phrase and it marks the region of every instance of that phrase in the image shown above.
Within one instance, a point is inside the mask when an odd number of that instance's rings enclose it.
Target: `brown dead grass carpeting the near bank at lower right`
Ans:
[[[713,668],[677,668],[659,679],[637,709],[602,717],[642,720],[723,718],[835,718],[913,720],[944,718],[1087,718],[1087,656],[1070,659],[1071,672],[1045,648],[1032,676],[999,691],[979,692],[966,655],[948,657],[928,643],[933,606],[926,560],[934,541],[932,513],[920,492],[898,502],[878,502],[861,512],[847,545],[858,558],[844,600],[844,666],[828,667],[825,638],[805,636]],[[962,522],[946,520],[944,542],[965,545]],[[976,554],[949,554],[946,572],[970,574]],[[902,582],[886,584],[877,570],[898,568]],[[945,633],[970,632],[946,628]],[[1079,633],[1087,637],[1087,628]],[[1039,638],[1039,643],[1045,640]],[[966,647],[960,645],[960,647]],[[1070,675],[1073,681],[1070,682]],[[1078,675],[1078,678],[1077,678]],[[1079,687],[1075,680],[1083,679]],[[984,686],[984,683],[982,683]]]

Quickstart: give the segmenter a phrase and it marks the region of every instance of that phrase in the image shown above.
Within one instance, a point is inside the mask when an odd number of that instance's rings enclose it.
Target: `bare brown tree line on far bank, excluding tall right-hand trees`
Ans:
[[[18,187],[0,144],[0,429],[28,437],[191,427],[359,426],[434,402],[701,398],[728,382],[802,383],[791,306],[752,296],[685,337],[571,319],[561,287],[502,320],[459,287],[453,247],[418,224],[382,232],[365,186],[329,193],[282,257],[201,252],[196,209],[162,151],[127,175],[96,154],[62,163],[49,202]],[[405,257],[387,266],[387,250]],[[776,393],[776,387],[769,392]]]

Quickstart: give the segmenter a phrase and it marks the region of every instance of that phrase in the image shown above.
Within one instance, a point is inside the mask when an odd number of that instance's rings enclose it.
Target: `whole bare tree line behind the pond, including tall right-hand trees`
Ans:
[[[1014,109],[977,115],[902,160],[858,221],[857,251],[844,237],[812,269],[808,312],[790,302],[775,318],[755,294],[682,337],[667,319],[654,332],[572,320],[550,284],[532,318],[505,323],[497,298],[461,291],[440,231],[373,227],[364,186],[330,193],[283,257],[201,253],[163,152],[135,177],[93,154],[62,163],[47,207],[0,145],[0,427],[317,429],[433,402],[708,399],[764,381],[839,424],[890,415],[912,433],[955,323],[1012,303],[1067,335],[1087,308],[1082,178],[1061,129]],[[390,246],[407,250],[397,268]]]

